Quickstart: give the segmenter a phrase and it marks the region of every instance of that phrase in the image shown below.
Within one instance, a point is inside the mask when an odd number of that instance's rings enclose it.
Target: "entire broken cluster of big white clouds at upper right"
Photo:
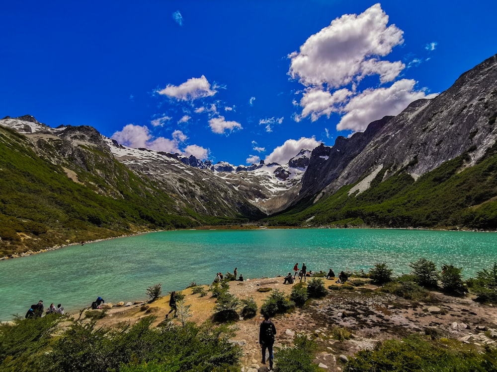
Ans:
[[[359,15],[342,15],[288,56],[288,74],[305,86],[298,103],[302,112],[293,115],[296,122],[307,117],[315,122],[336,113],[342,116],[338,130],[364,130],[370,122],[397,115],[413,100],[426,98],[424,91],[414,89],[414,80],[395,81],[405,63],[382,60],[404,42],[404,32],[388,21],[379,3]],[[408,67],[420,62],[413,60]],[[359,89],[364,77],[373,75],[380,85],[391,86]]]

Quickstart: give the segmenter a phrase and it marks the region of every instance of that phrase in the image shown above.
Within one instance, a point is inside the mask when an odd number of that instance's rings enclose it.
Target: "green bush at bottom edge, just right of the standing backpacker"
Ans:
[[[318,366],[312,361],[316,356],[318,345],[305,335],[294,339],[294,347],[283,347],[274,353],[275,372],[317,372]]]

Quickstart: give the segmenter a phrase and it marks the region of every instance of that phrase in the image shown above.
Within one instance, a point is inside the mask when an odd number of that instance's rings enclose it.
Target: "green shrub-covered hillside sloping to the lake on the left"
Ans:
[[[82,149],[91,172],[73,166],[81,183],[74,182],[62,166],[37,155],[23,135],[0,130],[0,257],[141,231],[238,222],[176,206],[150,180],[94,148]]]

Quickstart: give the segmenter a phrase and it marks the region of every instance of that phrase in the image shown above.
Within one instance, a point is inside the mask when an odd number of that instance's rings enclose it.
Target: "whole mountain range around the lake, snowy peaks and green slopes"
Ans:
[[[6,117],[0,256],[199,225],[496,229],[496,118],[496,56],[287,164],[212,164],[129,148],[90,126]]]

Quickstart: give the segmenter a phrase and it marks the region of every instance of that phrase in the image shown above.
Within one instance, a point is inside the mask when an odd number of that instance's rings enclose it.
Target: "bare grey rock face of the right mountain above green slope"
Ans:
[[[419,100],[396,117],[369,124],[364,133],[339,137],[333,147],[313,151],[299,198],[333,193],[386,169],[417,179],[468,151],[475,164],[496,142],[497,56],[462,74],[431,100]]]

